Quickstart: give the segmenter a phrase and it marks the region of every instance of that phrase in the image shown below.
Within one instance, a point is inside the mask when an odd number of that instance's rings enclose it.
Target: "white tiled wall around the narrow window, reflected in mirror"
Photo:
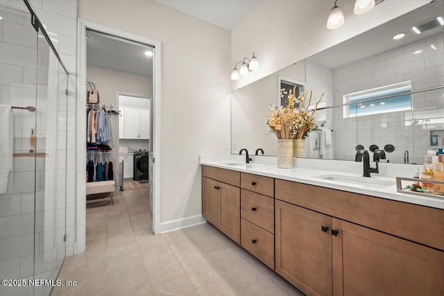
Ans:
[[[419,49],[420,53],[413,53]],[[344,94],[407,80],[411,80],[413,91],[442,86],[443,64],[443,36],[438,34],[334,69],[334,105],[343,103]],[[392,144],[395,151],[386,154],[391,162],[404,162],[404,150],[409,150],[409,161],[422,163],[422,155],[436,148],[430,146],[430,130],[444,130],[443,101],[442,89],[422,92],[412,96],[413,111],[357,119],[343,119],[343,109],[335,108],[334,157],[343,159],[345,150],[354,155],[357,143],[366,149],[371,144],[379,148]],[[412,124],[416,125],[413,129]]]

